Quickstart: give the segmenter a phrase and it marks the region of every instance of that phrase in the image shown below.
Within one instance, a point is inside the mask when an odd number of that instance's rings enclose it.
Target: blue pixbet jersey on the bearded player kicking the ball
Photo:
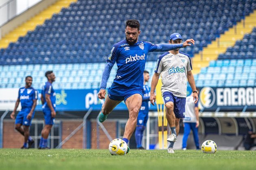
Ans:
[[[122,40],[112,47],[107,62],[117,63],[117,74],[114,84],[123,87],[143,89],[143,71],[147,54],[156,51],[157,45],[145,41],[138,41],[129,45]]]

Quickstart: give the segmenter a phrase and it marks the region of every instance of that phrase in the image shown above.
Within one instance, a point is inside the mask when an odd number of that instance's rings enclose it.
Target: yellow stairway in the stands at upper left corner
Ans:
[[[35,30],[37,25],[41,25],[46,19],[52,18],[52,15],[54,13],[59,13],[61,8],[67,8],[72,2],[76,1],[77,0],[59,0],[55,2],[0,39],[0,49],[8,47],[11,42],[16,42],[20,36],[26,35],[28,31]]]

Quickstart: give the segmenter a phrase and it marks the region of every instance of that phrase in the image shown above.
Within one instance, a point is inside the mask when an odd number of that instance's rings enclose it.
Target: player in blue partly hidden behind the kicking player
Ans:
[[[148,111],[150,106],[150,89],[146,83],[150,79],[150,75],[148,71],[143,72],[144,77],[144,83],[143,83],[143,98],[142,98],[142,104],[141,109],[139,110],[138,119],[137,119],[137,127],[135,130],[135,140],[137,143],[137,149],[145,149],[141,146],[142,138],[143,138],[143,132],[145,130],[145,127],[147,125],[148,121]]]

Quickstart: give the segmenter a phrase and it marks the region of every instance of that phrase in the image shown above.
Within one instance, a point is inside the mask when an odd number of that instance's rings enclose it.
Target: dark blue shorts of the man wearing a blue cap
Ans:
[[[185,104],[186,98],[180,98],[174,96],[171,92],[165,91],[163,93],[164,103],[173,102],[174,103],[174,114],[177,118],[185,118]]]

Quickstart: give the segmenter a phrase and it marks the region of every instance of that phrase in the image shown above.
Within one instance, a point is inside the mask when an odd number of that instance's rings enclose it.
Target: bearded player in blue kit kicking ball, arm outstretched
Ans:
[[[148,52],[169,51],[194,44],[193,39],[186,40],[183,44],[152,44],[146,41],[138,41],[141,33],[139,21],[129,19],[126,21],[126,39],[113,45],[108,55],[102,75],[98,98],[104,99],[106,95],[106,83],[115,62],[117,63],[117,74],[113,84],[108,89],[108,95],[102,105],[98,116],[100,122],[106,120],[107,115],[124,100],[129,119],[126,123],[123,140],[128,143],[137,124],[137,116],[141,108],[143,97],[143,71]],[[129,149],[128,149],[129,151]]]

